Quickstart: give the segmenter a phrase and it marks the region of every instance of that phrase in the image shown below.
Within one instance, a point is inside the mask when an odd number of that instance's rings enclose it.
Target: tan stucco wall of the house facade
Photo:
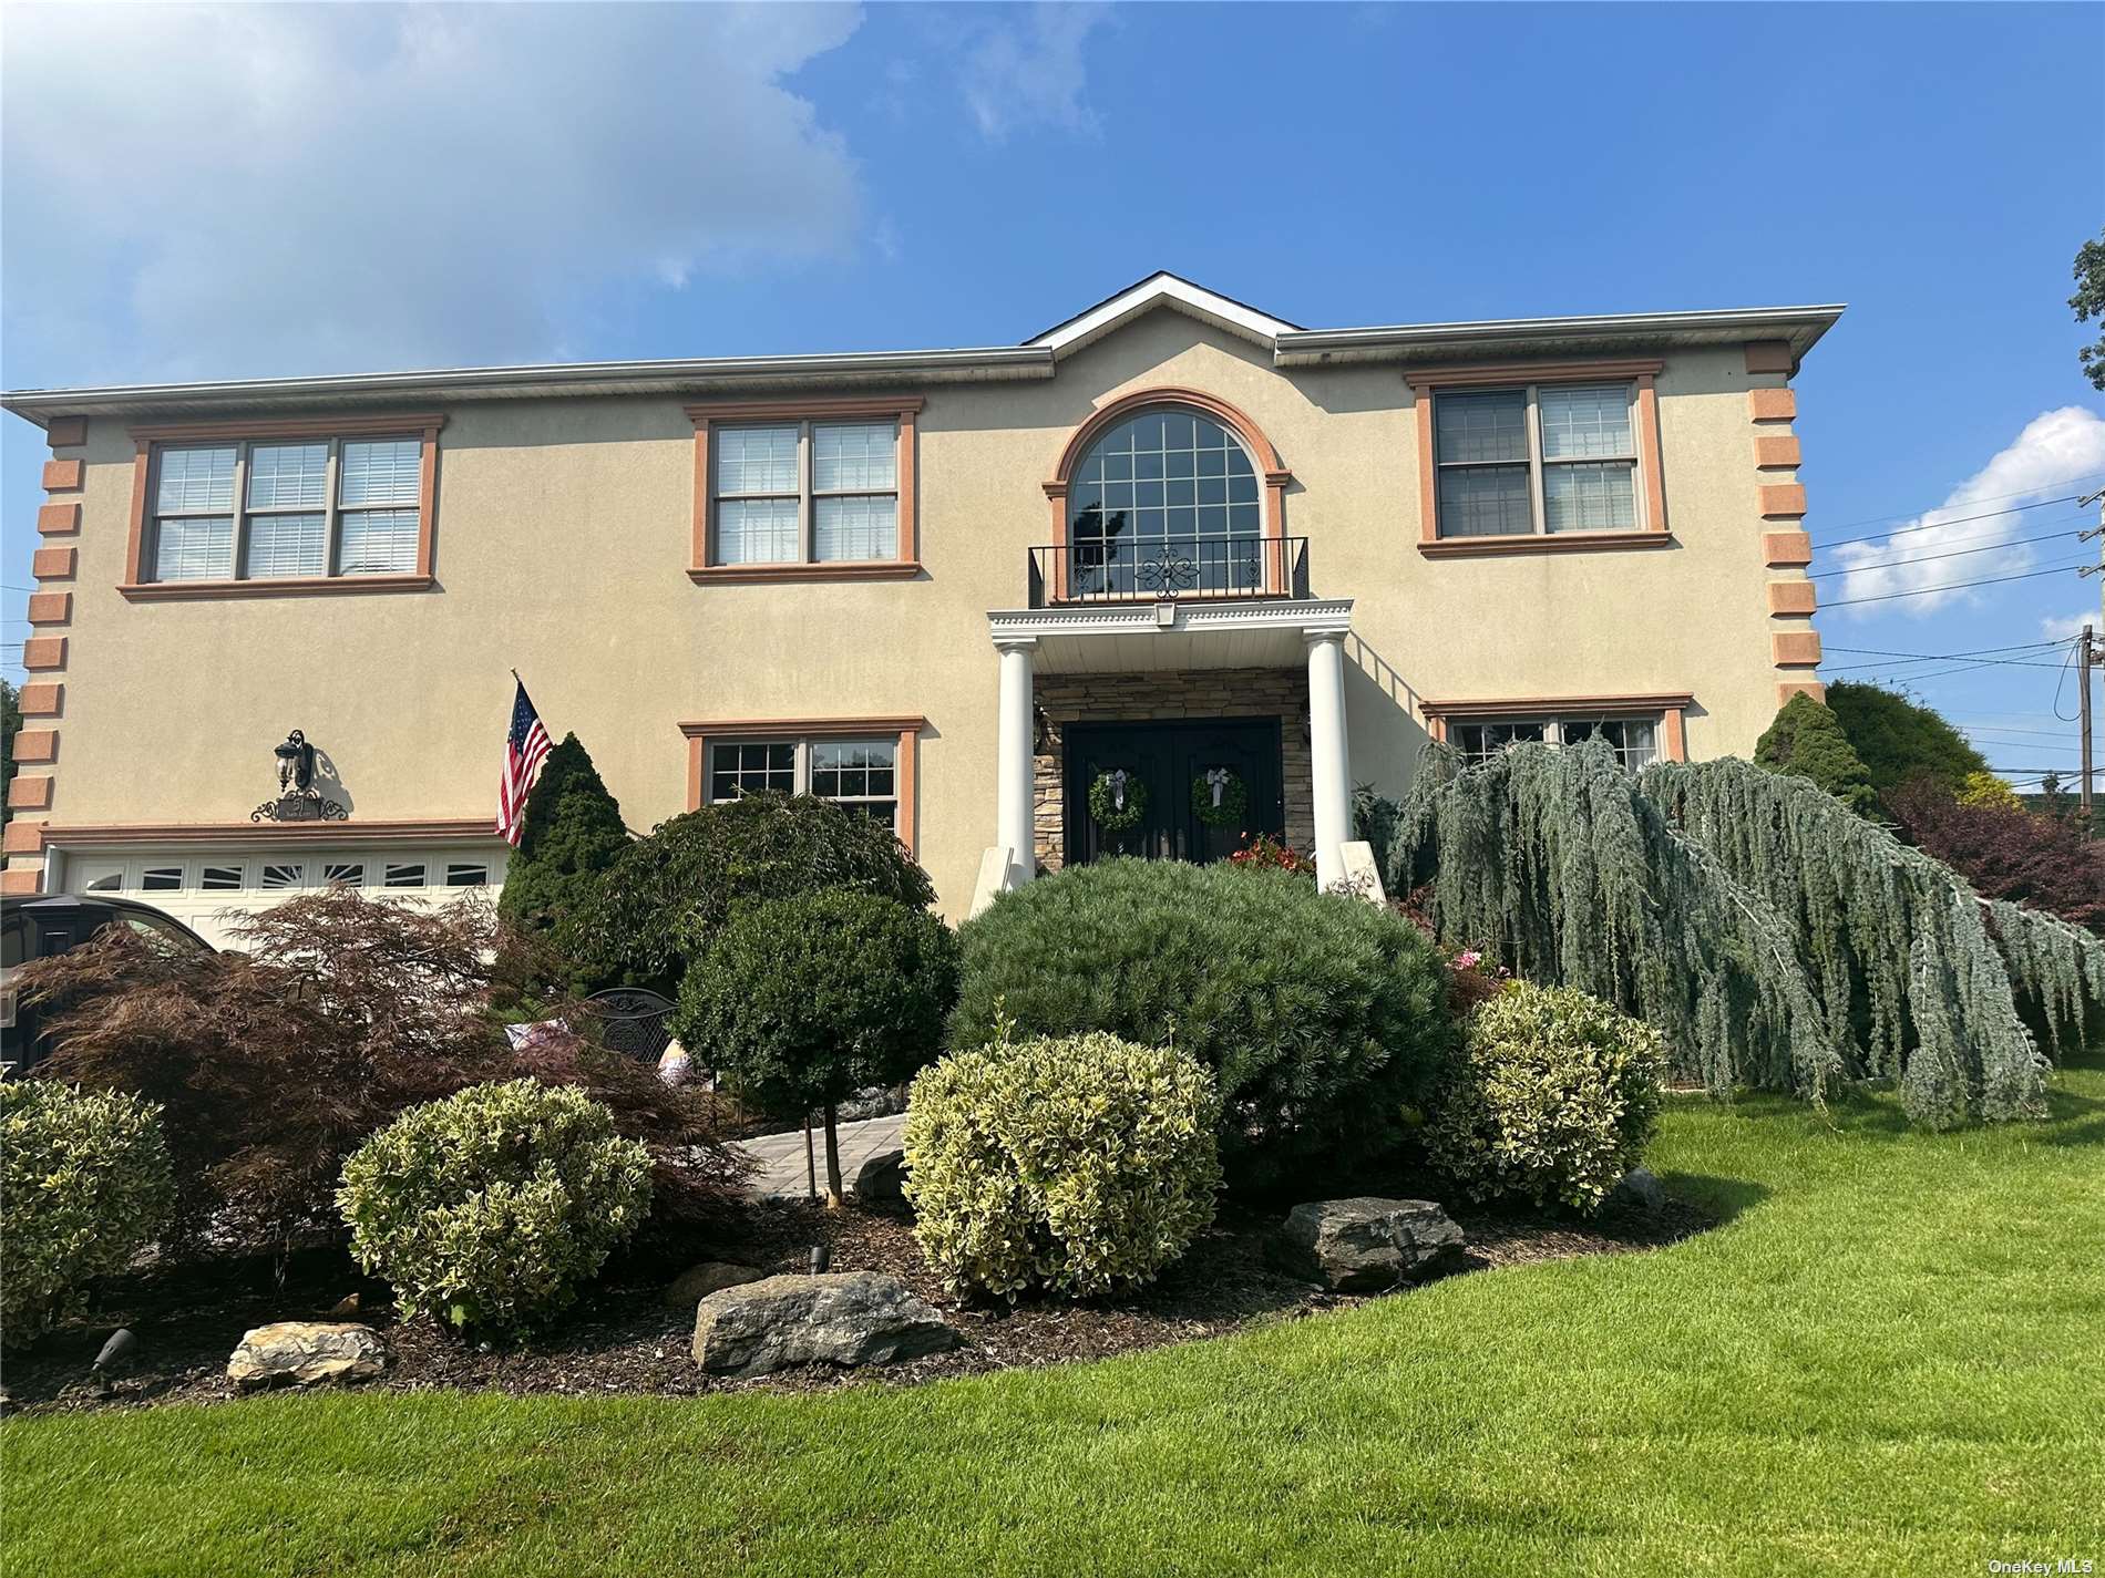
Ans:
[[[924,715],[920,854],[949,913],[994,837],[989,608],[1050,541],[1040,484],[1099,404],[1151,385],[1246,410],[1295,473],[1311,591],[1354,598],[1356,781],[1400,787],[1417,696],[1695,692],[1690,755],[1745,753],[1777,709],[1741,349],[1667,351],[1667,524],[1652,551],[1425,560],[1412,396],[1394,366],[1278,372],[1156,311],[1044,383],[920,389],[920,558],[905,583],[693,585],[693,425],[676,398],[448,408],[438,591],[131,604],[133,444],[88,427],[51,821],[240,821],[307,730],[354,818],[486,816],[518,667],[636,829],[686,806],[682,720]],[[1777,522],[1770,522],[1775,528]]]

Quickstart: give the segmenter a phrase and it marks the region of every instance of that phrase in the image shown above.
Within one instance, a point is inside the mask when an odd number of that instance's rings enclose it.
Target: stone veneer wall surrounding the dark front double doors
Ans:
[[[1042,673],[1036,686],[1044,749],[1036,770],[1038,865],[1059,871],[1065,854],[1061,749],[1067,724],[1137,724],[1181,717],[1278,717],[1286,842],[1316,844],[1305,669],[1175,669],[1156,673]]]

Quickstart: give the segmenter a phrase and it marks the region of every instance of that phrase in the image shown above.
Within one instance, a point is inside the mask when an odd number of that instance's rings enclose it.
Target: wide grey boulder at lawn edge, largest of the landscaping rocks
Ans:
[[[720,1376],[895,1363],[956,1342],[933,1304],[876,1271],[766,1277],[714,1292],[695,1309],[695,1363]]]

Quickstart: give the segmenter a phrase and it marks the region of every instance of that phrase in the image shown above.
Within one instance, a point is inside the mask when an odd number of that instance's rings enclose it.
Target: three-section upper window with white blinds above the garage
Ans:
[[[126,591],[177,583],[429,576],[438,419],[259,427],[248,436],[135,429],[147,484]]]

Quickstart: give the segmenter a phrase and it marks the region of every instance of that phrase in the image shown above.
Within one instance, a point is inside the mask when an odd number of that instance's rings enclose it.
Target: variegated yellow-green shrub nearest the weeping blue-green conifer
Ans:
[[[1593,1212],[1659,1121],[1665,1037],[1570,987],[1516,980],[1480,1004],[1431,1102],[1427,1153],[1471,1199]]]

